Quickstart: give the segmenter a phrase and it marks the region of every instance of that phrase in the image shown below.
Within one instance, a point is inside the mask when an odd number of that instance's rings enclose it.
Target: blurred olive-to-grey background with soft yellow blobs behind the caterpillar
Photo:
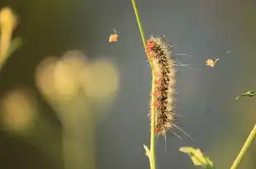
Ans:
[[[151,70],[130,1],[1,0],[22,46],[0,73],[0,167],[149,168]],[[138,0],[147,35],[165,35],[177,72],[179,131],[157,138],[158,168],[196,168],[181,146],[229,168],[255,123],[256,2]],[[119,40],[109,43],[113,30]],[[190,54],[192,57],[178,54]],[[206,59],[220,58],[215,68]],[[256,168],[253,143],[240,168]]]

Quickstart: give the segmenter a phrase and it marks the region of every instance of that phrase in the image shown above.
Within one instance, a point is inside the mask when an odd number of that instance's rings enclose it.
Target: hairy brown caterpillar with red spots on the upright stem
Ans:
[[[170,46],[161,37],[147,40],[146,53],[153,68],[150,104],[156,110],[155,133],[165,136],[175,126],[175,61],[171,59]]]

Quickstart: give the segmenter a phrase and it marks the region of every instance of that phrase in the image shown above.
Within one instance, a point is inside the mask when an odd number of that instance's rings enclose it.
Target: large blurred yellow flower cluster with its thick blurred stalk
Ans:
[[[48,57],[36,68],[36,85],[63,125],[65,168],[96,168],[96,123],[106,115],[118,84],[112,62],[88,62],[80,50],[68,51],[60,59]]]

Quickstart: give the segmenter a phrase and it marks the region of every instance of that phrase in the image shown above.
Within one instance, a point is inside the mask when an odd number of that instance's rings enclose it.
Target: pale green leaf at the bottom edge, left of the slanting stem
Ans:
[[[200,149],[195,149],[192,147],[181,147],[180,151],[183,153],[187,153],[195,166],[206,167],[207,169],[214,169],[213,162],[210,161],[209,157],[206,157],[203,153],[201,153]]]

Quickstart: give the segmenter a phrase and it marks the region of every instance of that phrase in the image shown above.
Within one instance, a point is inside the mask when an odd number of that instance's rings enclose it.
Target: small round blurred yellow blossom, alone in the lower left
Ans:
[[[1,100],[0,117],[3,129],[9,134],[30,134],[38,117],[37,102],[33,93],[24,87],[7,92]]]

